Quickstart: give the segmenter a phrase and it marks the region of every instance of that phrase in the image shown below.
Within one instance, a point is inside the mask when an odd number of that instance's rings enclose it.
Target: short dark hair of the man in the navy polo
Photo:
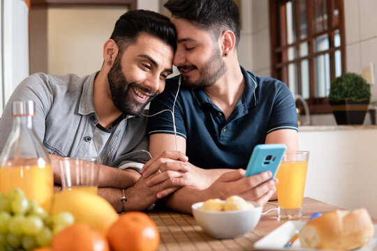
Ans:
[[[173,17],[189,20],[193,25],[211,31],[219,38],[229,29],[239,43],[239,10],[232,0],[168,0],[165,3]]]

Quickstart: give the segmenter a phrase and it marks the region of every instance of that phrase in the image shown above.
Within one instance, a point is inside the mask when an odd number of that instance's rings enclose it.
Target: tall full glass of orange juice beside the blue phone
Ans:
[[[281,161],[276,178],[276,192],[279,202],[279,218],[294,219],[302,217],[302,201],[309,151],[287,151]]]

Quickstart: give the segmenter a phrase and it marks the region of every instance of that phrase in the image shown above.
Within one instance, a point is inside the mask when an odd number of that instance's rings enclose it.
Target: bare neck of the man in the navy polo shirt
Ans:
[[[242,75],[238,61],[235,60],[235,63],[228,64],[226,73],[216,84],[207,87],[205,93],[228,119],[244,93],[244,75]]]

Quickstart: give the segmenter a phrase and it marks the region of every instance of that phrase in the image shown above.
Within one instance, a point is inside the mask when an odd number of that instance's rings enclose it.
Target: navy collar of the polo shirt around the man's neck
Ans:
[[[246,103],[248,108],[255,107],[257,105],[257,98],[256,98],[256,75],[253,73],[249,73],[245,68],[239,66],[241,68],[242,75],[244,75],[245,79],[245,89],[244,93],[242,93],[242,103]],[[207,94],[202,88],[195,88],[193,89],[193,93],[195,94],[195,98],[198,102],[198,105],[205,105],[205,104],[213,104],[213,102],[208,98]]]

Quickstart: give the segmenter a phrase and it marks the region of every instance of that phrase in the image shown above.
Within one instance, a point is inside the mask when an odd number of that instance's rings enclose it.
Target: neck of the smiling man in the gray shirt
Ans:
[[[112,102],[108,78],[102,71],[94,79],[93,102],[98,123],[104,128],[111,128],[112,123],[121,116],[121,112]]]

